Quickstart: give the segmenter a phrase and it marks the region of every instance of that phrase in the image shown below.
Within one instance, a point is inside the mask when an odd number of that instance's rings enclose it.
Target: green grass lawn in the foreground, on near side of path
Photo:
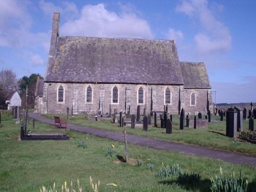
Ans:
[[[100,180],[99,191],[210,191],[210,177],[219,175],[220,167],[224,176],[230,177],[233,173],[239,176],[241,172],[242,177],[248,178],[249,191],[256,189],[256,169],[250,165],[236,165],[221,160],[153,150],[131,144],[129,144],[131,163],[125,163],[121,161],[124,157],[124,144],[121,142],[75,131],[57,130],[51,125],[37,121],[35,129],[29,124],[28,130],[62,132],[68,134],[71,139],[18,141],[19,124],[15,124],[8,117],[2,119],[5,120],[0,126],[0,191],[40,191],[42,185],[49,189],[54,182],[57,191],[61,191],[63,182],[67,181],[70,186],[70,181],[73,181],[75,185],[77,178],[82,191],[92,191],[90,176],[94,182]],[[108,124],[108,121],[97,123]],[[115,126],[111,129],[120,129]],[[136,131],[140,132],[139,129]],[[77,139],[86,142],[88,147],[78,147],[75,143]],[[115,145],[118,156],[106,157],[105,153],[112,144]],[[142,162],[141,166],[138,166],[138,161]],[[153,170],[148,169],[148,163],[154,165]],[[195,172],[199,173],[201,178],[194,184],[181,182],[176,176],[160,179],[156,177],[156,173],[162,167],[162,163],[170,166],[179,164],[188,175]],[[115,183],[117,186],[106,185],[108,183]]]

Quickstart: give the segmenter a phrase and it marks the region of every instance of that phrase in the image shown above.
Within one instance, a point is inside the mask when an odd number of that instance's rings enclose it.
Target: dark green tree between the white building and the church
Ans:
[[[33,73],[29,77],[23,76],[18,80],[18,91],[19,91],[20,97],[22,98],[22,106],[26,106],[26,100],[27,100],[26,90],[28,86],[27,106],[29,108],[34,108],[37,76],[39,76],[40,79],[44,79],[41,77],[41,75]]]

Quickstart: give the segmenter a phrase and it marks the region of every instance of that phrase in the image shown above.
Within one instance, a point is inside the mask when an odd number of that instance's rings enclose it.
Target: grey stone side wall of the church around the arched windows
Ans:
[[[64,88],[63,102],[57,101],[58,87]],[[86,90],[90,86],[92,88],[92,102],[86,102]],[[112,90],[118,88],[118,102],[112,102]],[[138,90],[143,88],[144,101],[138,103]],[[137,105],[141,105],[141,114],[144,108],[146,114],[153,111],[164,111],[165,89],[170,89],[171,103],[168,103],[168,112],[170,114],[179,113],[179,95],[181,100],[181,108],[186,111],[195,112],[204,109],[206,106],[206,90],[187,90],[183,86],[166,86],[166,85],[147,85],[147,84],[99,84],[99,83],[45,83],[44,97],[42,99],[42,113],[65,114],[67,108],[73,107],[74,114],[89,113],[95,114],[98,109],[101,113],[109,113],[110,104],[111,111],[123,111],[127,113],[137,113]],[[195,91],[197,94],[197,105],[190,106],[190,92]],[[48,97],[47,97],[48,95]],[[202,103],[201,103],[202,100]],[[126,106],[126,109],[125,109]]]

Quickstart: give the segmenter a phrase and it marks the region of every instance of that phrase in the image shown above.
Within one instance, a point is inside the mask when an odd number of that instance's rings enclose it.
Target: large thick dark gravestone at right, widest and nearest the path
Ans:
[[[226,136],[228,137],[237,137],[237,111],[229,108],[226,111]]]

